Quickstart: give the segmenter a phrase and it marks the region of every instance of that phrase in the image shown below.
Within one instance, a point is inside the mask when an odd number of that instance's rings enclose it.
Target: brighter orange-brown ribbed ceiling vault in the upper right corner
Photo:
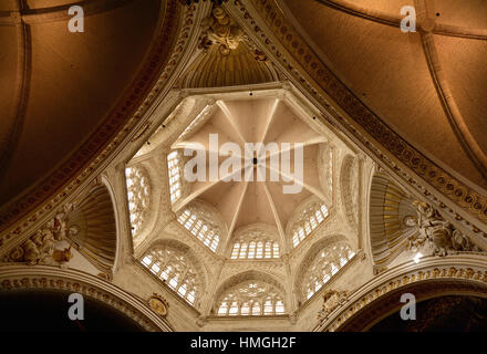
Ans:
[[[426,156],[487,187],[487,2],[416,1],[417,32],[407,34],[398,28],[402,0],[279,6],[386,124]]]

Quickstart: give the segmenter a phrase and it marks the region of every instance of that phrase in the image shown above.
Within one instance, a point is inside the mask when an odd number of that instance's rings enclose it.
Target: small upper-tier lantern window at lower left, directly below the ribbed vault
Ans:
[[[220,237],[218,235],[218,229],[213,227],[197,212],[185,209],[177,218],[180,225],[185,227],[186,230],[191,232],[193,236],[198,238],[206,247],[211,251],[216,252],[218,243],[220,242]]]

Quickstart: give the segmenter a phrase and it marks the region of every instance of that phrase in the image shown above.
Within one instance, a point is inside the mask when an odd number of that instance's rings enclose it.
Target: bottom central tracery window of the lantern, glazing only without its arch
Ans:
[[[220,316],[257,316],[284,314],[283,294],[260,280],[239,283],[224,293],[218,302]]]

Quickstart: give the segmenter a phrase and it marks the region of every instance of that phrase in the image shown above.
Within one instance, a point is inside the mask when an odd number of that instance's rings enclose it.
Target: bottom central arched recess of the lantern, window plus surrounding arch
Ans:
[[[286,313],[284,287],[273,277],[247,271],[217,290],[213,312],[218,315],[279,315]]]

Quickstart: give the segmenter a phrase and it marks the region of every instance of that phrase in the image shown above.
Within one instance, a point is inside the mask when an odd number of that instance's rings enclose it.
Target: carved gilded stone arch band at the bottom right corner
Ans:
[[[386,271],[350,293],[322,319],[317,331],[365,331],[403,304],[401,294],[414,291],[417,302],[441,295],[470,294],[487,298],[485,257],[465,254],[431,257]]]

